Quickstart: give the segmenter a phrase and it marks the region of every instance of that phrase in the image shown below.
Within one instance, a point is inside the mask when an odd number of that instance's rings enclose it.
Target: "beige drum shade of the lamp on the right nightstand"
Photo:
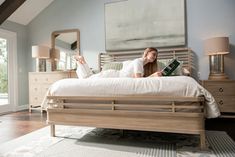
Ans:
[[[215,37],[205,40],[204,51],[207,55],[228,54],[228,37]]]

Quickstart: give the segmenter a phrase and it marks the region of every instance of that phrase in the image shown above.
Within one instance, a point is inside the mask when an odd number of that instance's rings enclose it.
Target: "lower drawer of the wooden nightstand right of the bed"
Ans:
[[[235,112],[235,96],[217,96],[215,100],[220,112]]]

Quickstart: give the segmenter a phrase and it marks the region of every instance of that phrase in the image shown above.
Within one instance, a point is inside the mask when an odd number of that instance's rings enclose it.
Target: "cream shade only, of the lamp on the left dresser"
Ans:
[[[50,48],[47,46],[32,46],[32,58],[50,58]]]

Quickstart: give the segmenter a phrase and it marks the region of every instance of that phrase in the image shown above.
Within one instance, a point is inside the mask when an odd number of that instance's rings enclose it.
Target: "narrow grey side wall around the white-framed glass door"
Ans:
[[[17,34],[17,63],[18,63],[18,105],[28,104],[28,35],[27,27],[10,21],[5,21],[0,28]]]

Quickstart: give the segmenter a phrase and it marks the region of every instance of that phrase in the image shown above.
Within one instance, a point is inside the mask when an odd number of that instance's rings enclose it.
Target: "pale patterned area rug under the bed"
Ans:
[[[0,157],[235,157],[235,142],[220,131],[207,131],[208,149],[199,136],[56,126],[45,127],[0,145]]]

